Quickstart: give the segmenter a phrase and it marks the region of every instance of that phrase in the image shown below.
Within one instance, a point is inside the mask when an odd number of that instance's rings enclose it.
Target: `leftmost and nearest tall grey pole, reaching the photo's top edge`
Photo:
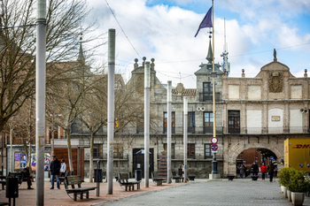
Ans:
[[[37,26],[35,62],[35,202],[36,205],[41,206],[44,205],[46,0],[37,0],[36,7]]]

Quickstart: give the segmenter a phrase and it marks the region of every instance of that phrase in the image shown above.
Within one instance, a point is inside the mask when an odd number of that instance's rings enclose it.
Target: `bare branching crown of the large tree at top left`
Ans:
[[[35,1],[1,1],[0,27],[0,132],[29,96],[35,94]],[[72,61],[94,25],[81,28],[89,10],[84,0],[49,0],[46,27],[47,88],[62,80],[67,72],[57,62]],[[100,38],[100,36],[99,36]],[[99,43],[100,44],[100,43]]]

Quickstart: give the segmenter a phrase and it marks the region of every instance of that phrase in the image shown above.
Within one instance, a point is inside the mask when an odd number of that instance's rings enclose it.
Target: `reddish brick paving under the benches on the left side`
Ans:
[[[150,181],[150,187],[145,188],[144,182],[140,184],[141,189],[134,191],[125,192],[124,188],[120,187],[118,182],[113,182],[113,194],[107,195],[107,184],[100,183],[100,195],[97,197],[97,190],[89,191],[89,199],[79,200],[74,202],[68,195],[66,195],[66,190],[64,184],[60,185],[60,190],[57,189],[55,184],[55,189],[50,190],[50,182],[44,182],[44,205],[48,206],[61,206],[61,205],[76,205],[76,206],[88,206],[96,205],[103,202],[115,201],[120,198],[125,198],[130,195],[141,195],[143,193],[148,193],[155,190],[166,189],[168,187],[177,187],[184,185],[185,183],[172,183],[172,184],[163,184],[162,186],[155,186]],[[81,184],[81,187],[96,187],[97,183],[85,182]],[[35,182],[33,183],[35,188]],[[73,195],[71,195],[73,197]],[[85,197],[84,197],[85,198]],[[0,202],[8,202],[8,198],[5,198],[5,189],[0,190]],[[23,182],[19,187],[19,198],[16,198],[16,205],[23,206],[33,206],[35,205],[35,189],[28,190],[27,182]]]

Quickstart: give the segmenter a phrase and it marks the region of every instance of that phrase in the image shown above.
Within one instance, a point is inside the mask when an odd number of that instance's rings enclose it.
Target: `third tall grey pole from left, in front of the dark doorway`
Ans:
[[[149,187],[150,62],[144,65],[144,187]]]

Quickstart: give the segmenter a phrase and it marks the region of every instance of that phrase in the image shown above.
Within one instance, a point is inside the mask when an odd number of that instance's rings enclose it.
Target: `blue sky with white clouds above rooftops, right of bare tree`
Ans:
[[[185,88],[196,88],[194,72],[207,62],[209,28],[201,29],[196,38],[194,35],[211,0],[87,1],[92,11],[86,23],[97,19],[97,32],[101,34],[116,29],[116,71],[124,78],[130,77],[135,58],[140,64],[142,57],[148,61],[155,58],[160,81],[172,80],[176,86],[181,77]],[[242,69],[246,77],[254,77],[263,65],[273,61],[274,49],[278,61],[288,65],[296,77],[302,77],[305,69],[310,72],[309,0],[215,0],[215,62],[220,64],[224,19],[230,77],[240,77]],[[107,46],[101,50],[107,52]],[[103,58],[106,61],[107,57]]]

